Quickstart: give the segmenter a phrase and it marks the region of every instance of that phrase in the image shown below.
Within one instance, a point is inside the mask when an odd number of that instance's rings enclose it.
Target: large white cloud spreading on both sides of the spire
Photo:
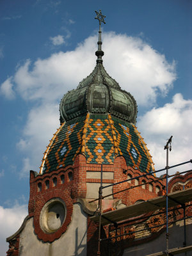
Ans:
[[[35,63],[27,60],[15,74],[20,95],[24,99],[53,101],[60,99],[67,90],[76,88],[79,81],[93,70],[96,42],[97,36],[90,36],[74,51],[58,52]],[[103,45],[104,67],[122,89],[136,97],[138,104],[148,106],[156,102],[158,92],[166,95],[172,87],[176,79],[175,64],[168,63],[164,55],[140,38],[105,33]]]

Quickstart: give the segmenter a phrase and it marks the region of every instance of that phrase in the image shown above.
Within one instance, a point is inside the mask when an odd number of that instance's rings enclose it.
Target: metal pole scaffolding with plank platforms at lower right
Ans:
[[[162,213],[166,213],[166,223],[163,223],[161,225],[153,226],[153,228],[166,226],[166,250],[165,250],[165,252],[158,252],[158,253],[150,254],[150,255],[147,255],[147,256],[168,256],[168,255],[177,255],[179,253],[185,253],[185,255],[187,255],[186,253],[192,250],[192,245],[187,246],[187,244],[186,244],[186,220],[192,217],[192,216],[187,216],[186,217],[186,208],[188,208],[189,206],[192,205],[192,204],[186,205],[186,203],[187,202],[192,202],[192,188],[184,189],[182,191],[175,191],[175,192],[172,192],[172,193],[168,193],[168,179],[169,178],[175,177],[177,175],[181,175],[181,174],[184,174],[184,173],[189,173],[189,172],[192,171],[192,170],[187,170],[185,172],[177,172],[173,175],[169,175],[168,170],[171,169],[171,168],[175,168],[177,166],[181,166],[183,164],[192,163],[192,160],[186,161],[184,163],[175,164],[173,166],[168,166],[168,151],[172,150],[171,143],[172,143],[172,136],[170,137],[170,139],[168,140],[168,142],[164,146],[164,150],[166,150],[166,167],[161,169],[161,170],[157,170],[157,171],[150,172],[150,173],[145,173],[143,175],[138,175],[136,177],[132,177],[131,179],[122,180],[120,182],[109,184],[107,186],[102,186],[103,171],[102,171],[102,164],[101,164],[99,198],[96,198],[95,200],[91,200],[89,202],[89,203],[92,203],[92,202],[99,201],[97,214],[90,217],[90,220],[99,223],[99,237],[98,237],[97,255],[100,255],[100,243],[102,241],[110,241],[111,239],[118,239],[119,237],[127,235],[127,233],[124,233],[124,234],[119,234],[119,235],[116,234],[116,236],[113,236],[113,237],[101,238],[101,226],[108,225],[108,224],[113,224],[115,226],[115,228],[117,228],[119,222],[120,222],[119,225],[123,224],[122,221],[124,221],[124,223],[132,222],[132,220],[130,220],[130,218],[136,218],[137,216],[139,216],[139,217],[134,219],[134,220],[143,220],[144,221],[148,217],[141,216],[141,214],[147,214],[148,212],[152,212],[152,211],[154,212],[156,210],[161,210],[161,209],[165,209],[165,210],[163,212],[161,211],[161,213],[151,214],[150,217],[151,216],[156,216],[156,215],[159,215],[159,214],[162,214]],[[118,184],[122,184],[124,182],[130,182],[131,180],[138,179],[138,178],[141,178],[141,177],[146,177],[147,175],[162,172],[164,170],[166,170],[165,175],[161,175],[161,177],[157,178],[156,180],[150,180],[150,182],[145,183],[145,184],[149,184],[149,183],[152,183],[152,182],[157,182],[158,180],[166,179],[166,188],[165,188],[166,189],[166,194],[164,196],[158,196],[156,198],[152,198],[150,200],[140,202],[140,204],[129,205],[127,207],[117,209],[115,211],[102,212],[102,200],[104,198],[107,198],[108,196],[116,195],[117,193],[122,193],[124,191],[129,190],[129,189],[138,188],[140,186],[143,186],[143,184],[138,184],[136,186],[131,186],[129,188],[126,188],[126,189],[123,189],[123,190],[120,190],[120,191],[116,191],[115,193],[111,193],[111,194],[106,195],[106,196],[102,196],[102,190],[103,189],[106,189],[106,188],[109,188],[111,186],[115,186],[115,185],[118,185]],[[177,207],[176,208],[177,210],[182,209],[183,210],[183,218],[180,218],[179,220],[169,221],[168,220],[168,212],[173,211],[172,209],[171,210],[169,209],[171,207]],[[169,244],[168,244],[169,243],[168,227],[169,227],[170,224],[176,223],[177,221],[184,221],[184,243],[183,243],[183,247],[181,247],[181,248],[172,248],[172,249],[170,249]],[[140,230],[129,232],[129,234],[134,234],[136,232],[141,232],[141,231],[150,230],[150,229],[151,229],[151,227],[143,228],[143,229],[140,229]]]

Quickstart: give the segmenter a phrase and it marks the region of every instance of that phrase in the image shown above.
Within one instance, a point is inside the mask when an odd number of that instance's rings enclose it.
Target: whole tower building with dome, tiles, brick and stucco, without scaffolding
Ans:
[[[115,184],[103,189],[103,213],[162,197],[166,186],[165,179],[154,175],[152,157],[136,128],[136,101],[104,69],[101,44],[99,30],[93,72],[61,99],[61,126],[45,150],[40,173],[30,172],[29,213],[7,239],[8,256],[148,255],[166,250],[166,214],[156,209],[102,225],[100,237],[111,239],[101,241],[98,252],[99,223],[92,216],[97,216],[99,203],[90,201],[99,197],[101,170],[102,185]],[[191,180],[192,173],[178,174],[169,182],[169,193],[190,189]],[[181,208],[171,210],[169,221],[184,216]],[[191,207],[185,214],[190,216]],[[190,237],[191,219],[186,222]],[[170,248],[184,242],[184,222],[177,224],[170,227]]]

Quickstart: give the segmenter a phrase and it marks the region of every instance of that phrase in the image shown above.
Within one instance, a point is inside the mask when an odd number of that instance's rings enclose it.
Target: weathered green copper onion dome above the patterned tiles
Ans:
[[[137,105],[134,97],[120,89],[101,61],[97,61],[93,72],[79,83],[76,90],[68,92],[61,100],[61,123],[87,112],[111,113],[122,120],[136,123]]]

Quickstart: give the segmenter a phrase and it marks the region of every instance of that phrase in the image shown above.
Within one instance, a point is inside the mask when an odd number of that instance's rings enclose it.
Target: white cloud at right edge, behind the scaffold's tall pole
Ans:
[[[173,136],[172,151],[170,152],[170,166],[189,161],[192,158],[192,100],[183,99],[180,93],[173,97],[172,103],[162,108],[153,108],[138,120],[138,129],[144,137],[150,154],[156,164],[156,170],[166,166],[166,140]],[[182,166],[174,170],[188,170]],[[173,170],[170,169],[170,173]]]

